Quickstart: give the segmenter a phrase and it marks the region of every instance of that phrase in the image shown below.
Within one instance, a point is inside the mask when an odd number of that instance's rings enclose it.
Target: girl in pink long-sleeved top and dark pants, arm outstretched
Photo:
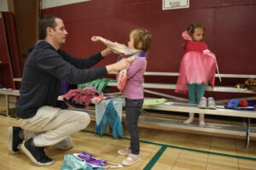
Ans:
[[[131,55],[132,53],[133,56],[136,56],[136,59],[131,63],[130,69],[126,72],[125,86],[120,90],[122,95],[125,96],[126,123],[131,135],[131,145],[125,150],[118,150],[118,153],[119,155],[127,155],[126,159],[122,161],[123,165],[132,165],[141,160],[137,122],[143,107],[143,74],[146,71],[146,56],[152,42],[152,36],[149,31],[144,29],[131,31],[130,42],[128,42],[129,48],[117,42],[109,43],[108,40],[102,37],[92,37],[92,41],[96,42],[98,40],[112,48],[114,53],[125,54],[119,59],[131,58],[127,54]]]

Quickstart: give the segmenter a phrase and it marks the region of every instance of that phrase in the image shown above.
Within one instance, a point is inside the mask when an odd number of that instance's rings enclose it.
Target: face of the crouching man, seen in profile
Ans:
[[[58,44],[64,44],[67,38],[67,31],[65,30],[65,26],[63,21],[59,18],[55,18],[56,26],[53,29],[53,40]]]

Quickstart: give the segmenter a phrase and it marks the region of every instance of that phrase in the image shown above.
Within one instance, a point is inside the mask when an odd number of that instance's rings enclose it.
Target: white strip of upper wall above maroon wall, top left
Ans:
[[[0,0],[3,1],[3,0]],[[72,4],[72,3],[81,3],[85,1],[90,1],[90,0],[42,0],[41,5],[42,9],[43,8],[52,8],[52,7],[58,7],[61,5],[67,5],[67,4]]]

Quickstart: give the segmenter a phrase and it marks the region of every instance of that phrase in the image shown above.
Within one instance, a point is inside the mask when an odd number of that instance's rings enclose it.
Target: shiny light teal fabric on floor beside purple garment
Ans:
[[[61,170],[104,170],[102,167],[90,167],[85,161],[79,160],[79,158],[68,154],[64,156],[64,162],[61,166]]]

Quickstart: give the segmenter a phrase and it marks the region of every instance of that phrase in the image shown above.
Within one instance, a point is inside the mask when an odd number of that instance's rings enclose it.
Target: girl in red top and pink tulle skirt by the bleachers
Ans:
[[[191,23],[187,31],[183,31],[185,54],[183,56],[175,92],[186,94],[189,90],[189,104],[195,104],[196,99],[200,108],[207,108],[207,99],[204,96],[205,84],[211,82],[212,88],[215,81],[216,59],[210,52],[207,44],[202,42],[205,27],[201,23]],[[218,67],[217,67],[218,69]],[[213,98],[208,98],[208,108],[214,109]],[[189,119],[184,123],[189,124],[194,120],[194,113],[189,113]],[[204,114],[199,115],[200,127],[205,127]]]

